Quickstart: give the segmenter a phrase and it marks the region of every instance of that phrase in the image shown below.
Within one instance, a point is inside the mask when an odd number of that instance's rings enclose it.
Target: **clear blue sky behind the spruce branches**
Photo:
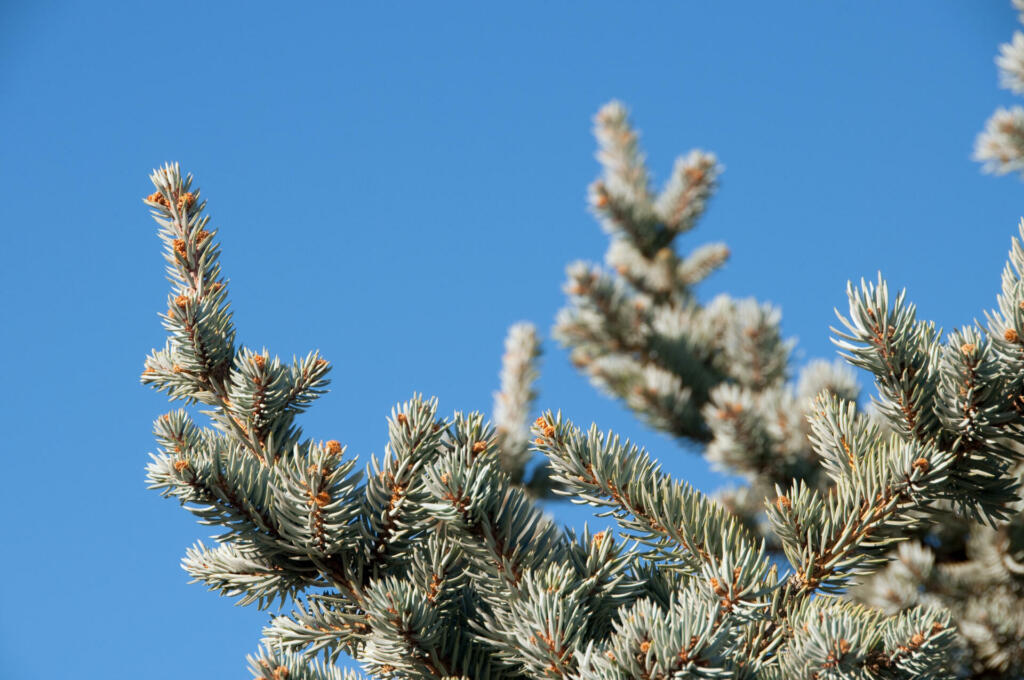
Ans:
[[[165,161],[210,200],[240,339],[322,349],[303,424],[360,457],[414,391],[489,412],[506,327],[547,333],[565,264],[602,257],[611,97],[657,177],[720,156],[684,245],[729,243],[703,293],[779,304],[801,362],[834,355],[851,278],[882,269],[946,328],[994,304],[1024,185],[970,153],[1014,100],[1009,2],[295,4],[0,7],[0,677],[242,677],[266,621],[186,584],[210,532],[143,484],[166,285],[139,199]],[[541,407],[721,483],[546,351]]]

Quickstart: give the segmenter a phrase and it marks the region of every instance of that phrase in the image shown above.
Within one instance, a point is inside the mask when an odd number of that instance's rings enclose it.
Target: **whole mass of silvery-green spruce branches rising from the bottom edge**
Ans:
[[[714,194],[715,157],[680,159],[654,193],[622,104],[596,134],[608,268],[568,267],[555,335],[743,488],[708,497],[561,413],[530,423],[526,324],[506,342],[494,425],[414,395],[380,459],[307,437],[296,416],[330,364],[239,344],[206,202],[176,165],[152,175],[172,288],[142,382],[184,408],[156,421],[147,479],[218,527],[186,551],[196,582],[291,609],[253,675],[354,680],[335,666],[348,654],[383,678],[1024,677],[1021,241],[984,326],[944,334],[881,275],[850,285],[835,340],[876,381],[862,410],[850,368],[794,370],[775,308],[698,300],[728,250],[681,255],[675,239]],[[558,526],[539,505],[553,495],[618,532]]]

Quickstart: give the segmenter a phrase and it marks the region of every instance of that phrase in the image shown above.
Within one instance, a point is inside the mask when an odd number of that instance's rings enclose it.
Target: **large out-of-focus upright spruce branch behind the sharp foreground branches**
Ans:
[[[602,175],[591,185],[590,203],[610,237],[608,269],[569,265],[569,303],[555,337],[599,388],[651,426],[706,445],[716,466],[748,478],[748,491],[727,491],[723,500],[777,547],[762,500],[794,478],[828,485],[807,417],[822,390],[856,400],[856,379],[826,362],[794,376],[793,343],[782,336],[775,307],[726,295],[698,300],[696,286],[729,251],[712,244],[682,255],[675,243],[695,227],[718,186],[722,168],[714,155],[694,151],[678,159],[655,195],[621,103],[598,113],[595,135]]]

